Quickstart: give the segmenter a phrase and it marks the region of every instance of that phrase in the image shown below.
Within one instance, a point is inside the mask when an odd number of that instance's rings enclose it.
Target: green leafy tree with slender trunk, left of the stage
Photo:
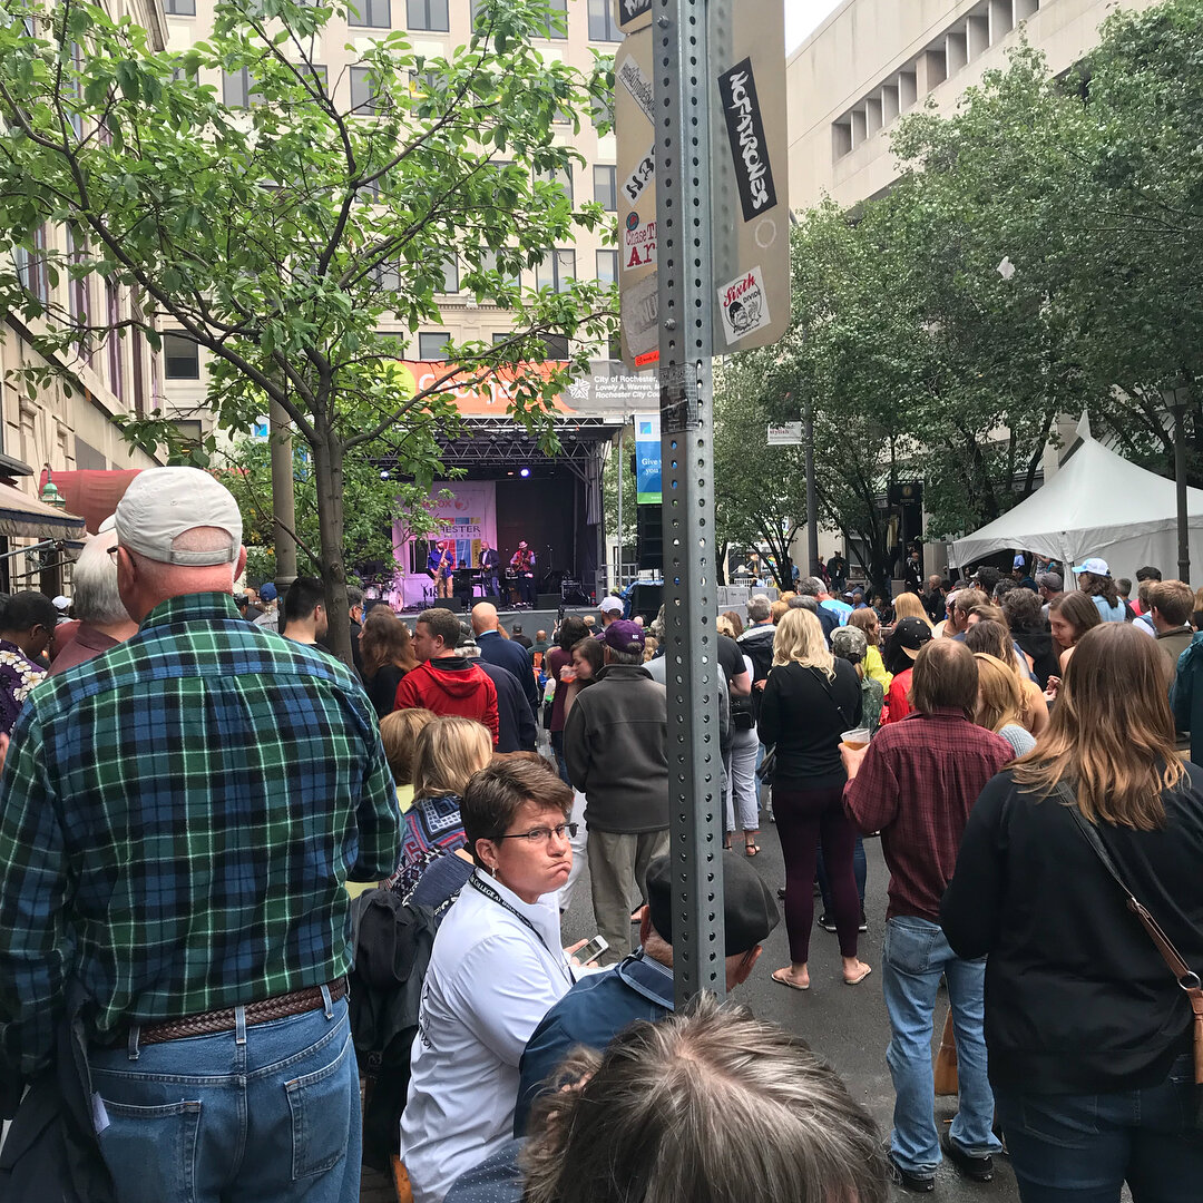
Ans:
[[[544,403],[609,336],[612,315],[595,283],[557,292],[515,279],[605,220],[592,203],[574,212],[555,182],[579,156],[552,130],[597,107],[605,65],[585,77],[539,53],[545,0],[484,0],[472,37],[446,58],[417,54],[401,31],[373,41],[361,59],[369,97],[352,111],[344,82],[315,61],[334,12],[345,8],[231,0],[211,37],[174,54],[95,5],[2,0],[0,242],[35,254],[43,226],[67,229],[70,253],[45,255],[52,286],[96,274],[128,289],[134,312],[119,330],[72,315],[16,271],[0,272],[0,307],[35,332],[49,371],[70,374],[97,339],[138,328],[156,345],[170,327],[208,354],[223,428],[245,432],[280,405],[312,456],[338,612],[349,457],[384,440],[423,484],[439,434],[458,422],[446,395],[458,371],[484,380],[544,358],[556,332],[571,339],[573,362],[528,374],[512,401],[552,446]],[[247,72],[248,109],[198,82],[218,71]],[[446,372],[419,389],[380,327],[393,321],[408,339],[437,324],[452,255],[461,288],[509,309],[515,333],[448,348]],[[336,636],[345,658],[342,628]]]

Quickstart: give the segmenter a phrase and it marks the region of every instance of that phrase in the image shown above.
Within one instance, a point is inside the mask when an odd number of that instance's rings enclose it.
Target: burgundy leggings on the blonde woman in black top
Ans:
[[[843,786],[826,789],[772,787],[772,813],[777,820],[781,851],[786,857],[786,931],[789,959],[802,965],[810,959],[811,928],[814,924],[814,857],[823,845],[835,907],[840,955],[857,955],[857,928],[860,899],[852,870],[857,834],[843,813]]]

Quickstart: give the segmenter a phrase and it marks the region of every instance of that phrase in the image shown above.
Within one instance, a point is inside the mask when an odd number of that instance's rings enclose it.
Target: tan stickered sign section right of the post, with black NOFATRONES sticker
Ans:
[[[789,328],[789,167],[781,0],[710,0],[715,351]]]

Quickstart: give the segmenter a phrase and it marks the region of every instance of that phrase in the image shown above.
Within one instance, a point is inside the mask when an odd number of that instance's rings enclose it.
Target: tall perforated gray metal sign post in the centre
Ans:
[[[725,990],[706,0],[656,0],[664,602],[676,1005]]]

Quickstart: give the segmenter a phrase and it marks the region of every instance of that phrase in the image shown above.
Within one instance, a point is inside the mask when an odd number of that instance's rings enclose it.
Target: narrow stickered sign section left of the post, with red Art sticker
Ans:
[[[620,0],[620,4],[626,2]],[[651,29],[629,35],[618,47],[614,90],[622,358],[627,367],[638,372],[652,367],[660,357]]]

